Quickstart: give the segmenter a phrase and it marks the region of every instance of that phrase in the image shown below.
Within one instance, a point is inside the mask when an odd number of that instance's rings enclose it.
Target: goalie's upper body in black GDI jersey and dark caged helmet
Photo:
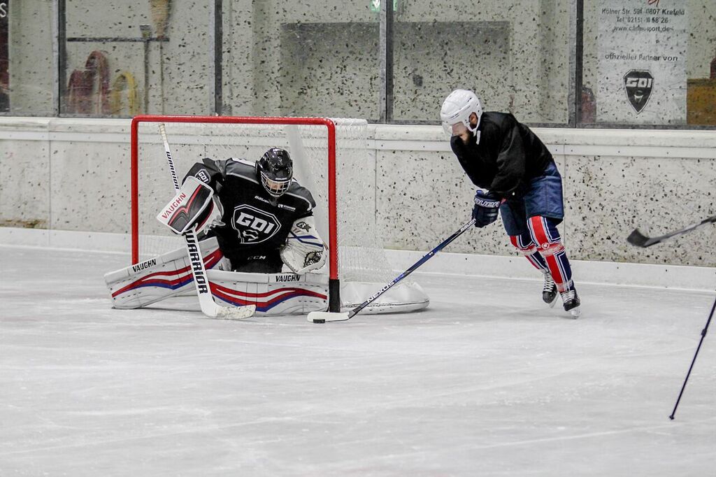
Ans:
[[[316,203],[293,178],[288,151],[271,148],[256,163],[205,158],[188,177],[208,185],[218,198],[221,222],[206,236],[216,236],[231,270],[277,273],[286,264],[303,274],[325,263],[313,217]]]

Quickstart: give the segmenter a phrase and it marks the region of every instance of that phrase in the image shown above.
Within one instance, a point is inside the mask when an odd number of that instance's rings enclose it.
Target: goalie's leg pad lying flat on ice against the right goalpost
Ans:
[[[328,276],[252,274],[208,270],[215,299],[231,306],[256,305],[256,314],[308,314],[328,308]]]

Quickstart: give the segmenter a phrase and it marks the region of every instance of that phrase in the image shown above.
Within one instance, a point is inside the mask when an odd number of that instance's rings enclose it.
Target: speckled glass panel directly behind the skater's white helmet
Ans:
[[[569,0],[397,0],[395,120],[435,121],[456,88],[523,122],[569,117]]]

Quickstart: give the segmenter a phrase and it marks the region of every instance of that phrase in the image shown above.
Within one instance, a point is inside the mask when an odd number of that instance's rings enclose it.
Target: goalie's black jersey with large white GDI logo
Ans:
[[[279,198],[266,192],[256,175],[253,162],[243,159],[205,158],[187,173],[208,184],[221,204],[224,226],[212,229],[224,256],[234,270],[280,271],[279,248],[297,218],[313,215],[316,206],[308,189],[291,180],[288,191]],[[258,261],[263,269],[243,265]]]

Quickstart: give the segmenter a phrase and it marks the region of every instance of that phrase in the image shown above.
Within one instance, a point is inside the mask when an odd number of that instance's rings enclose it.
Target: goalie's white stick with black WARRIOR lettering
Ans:
[[[172,153],[169,149],[167,131],[163,124],[159,125],[159,133],[162,135],[162,140],[164,142],[164,151],[167,154],[169,170],[172,174],[172,180],[174,181],[174,191],[178,193],[180,189],[179,180],[174,168]],[[246,319],[252,317],[253,312],[256,312],[256,305],[246,305],[245,307],[221,307],[214,302],[213,296],[211,295],[209,280],[206,277],[206,268],[204,266],[203,257],[201,256],[201,250],[199,249],[199,242],[196,238],[195,228],[192,227],[189,231],[185,232],[184,238],[186,241],[186,249],[189,254],[189,261],[191,263],[191,272],[194,276],[196,294],[199,297],[199,305],[203,314],[207,317],[220,319]]]

